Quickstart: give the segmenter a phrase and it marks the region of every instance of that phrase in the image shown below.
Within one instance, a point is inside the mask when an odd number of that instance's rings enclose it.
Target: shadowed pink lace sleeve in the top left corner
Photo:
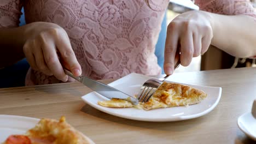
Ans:
[[[22,0],[0,1],[0,27],[18,27]]]

